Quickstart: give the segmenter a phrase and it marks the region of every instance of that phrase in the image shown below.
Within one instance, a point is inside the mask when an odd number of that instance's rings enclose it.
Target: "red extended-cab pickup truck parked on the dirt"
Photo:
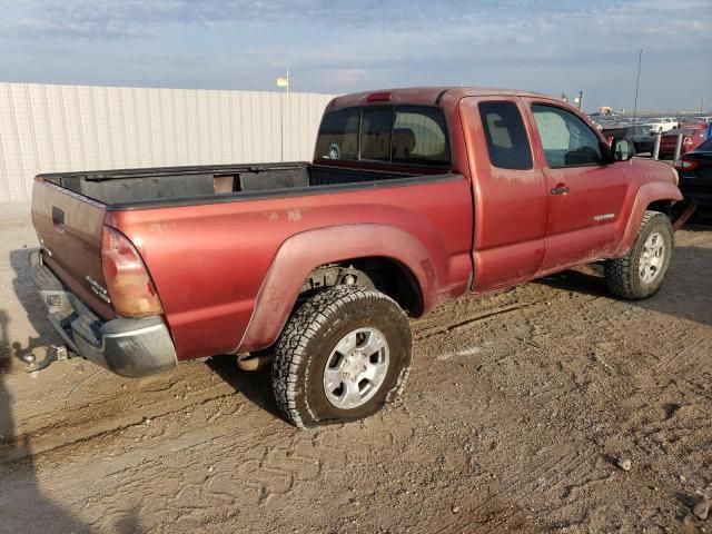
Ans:
[[[543,95],[342,96],[310,164],[38,176],[31,270],[71,353],[132,377],[271,353],[289,422],[352,421],[398,394],[407,317],[445,300],[593,261],[653,295],[682,197],[632,156]]]

